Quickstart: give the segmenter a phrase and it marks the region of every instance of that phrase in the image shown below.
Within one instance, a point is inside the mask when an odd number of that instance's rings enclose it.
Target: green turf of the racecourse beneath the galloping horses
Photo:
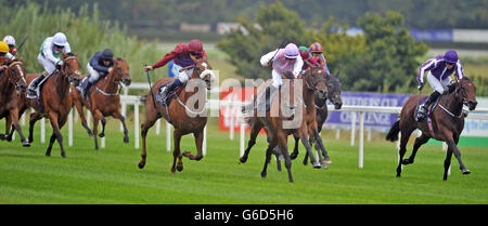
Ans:
[[[0,203],[488,203],[487,148],[462,147],[472,173],[462,175],[453,158],[452,173],[444,182],[445,152],[438,146],[424,146],[415,163],[406,165],[397,178],[395,143],[381,138],[365,143],[364,168],[359,169],[358,147],[351,147],[347,137],[336,141],[325,132],[333,164],[328,170],[304,167],[301,151],[293,162],[295,183],[291,184],[286,172],[277,171],[274,160],[268,176],[260,177],[265,136],[247,163],[240,164],[239,136],[230,141],[211,123],[207,156],[201,161],[184,158],[184,170],[171,174],[172,154],[166,151],[164,131],[158,136],[154,128],[150,131],[147,163],[140,170],[130,117],[129,144],[123,143],[118,123],[114,119],[108,123],[107,147],[99,151],[78,123],[75,144],[67,147],[64,128],[66,159],[57,144],[51,157],[44,156],[47,144],[39,143],[38,130],[29,148],[21,147],[18,137],[1,142]],[[181,145],[195,152],[193,136],[185,136]],[[408,149],[410,155],[411,144]]]

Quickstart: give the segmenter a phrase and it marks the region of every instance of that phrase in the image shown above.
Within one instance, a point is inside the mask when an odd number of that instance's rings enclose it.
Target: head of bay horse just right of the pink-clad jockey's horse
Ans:
[[[304,75],[304,82],[308,90],[313,90],[319,98],[326,98],[328,77],[322,67],[311,67]]]

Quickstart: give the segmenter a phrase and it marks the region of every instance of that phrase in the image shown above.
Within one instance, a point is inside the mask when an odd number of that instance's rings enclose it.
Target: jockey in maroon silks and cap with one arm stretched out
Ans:
[[[178,87],[190,80],[193,72],[193,67],[184,69],[181,72],[180,69],[195,65],[194,59],[202,57],[207,57],[207,53],[203,49],[202,42],[198,39],[193,39],[188,44],[178,44],[174,51],[167,53],[159,62],[144,67],[144,70],[154,70],[158,67],[165,66],[168,62],[174,61],[172,72],[175,74],[175,80],[162,90],[162,96],[166,96],[166,94],[175,91]]]

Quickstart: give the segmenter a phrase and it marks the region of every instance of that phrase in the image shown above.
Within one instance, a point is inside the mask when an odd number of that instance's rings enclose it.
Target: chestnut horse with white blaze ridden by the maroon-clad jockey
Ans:
[[[183,170],[182,156],[191,160],[201,160],[203,158],[203,130],[207,123],[207,111],[205,107],[207,93],[205,88],[210,90],[215,74],[211,70],[211,66],[208,64],[206,57],[195,59],[194,62],[195,65],[193,66],[191,79],[183,88],[181,88],[179,95],[169,101],[167,107],[155,103],[154,98],[156,97],[159,88],[172,81],[174,78],[159,79],[151,87],[147,98],[145,99],[145,120],[141,124],[142,152],[141,160],[139,162],[140,169],[144,168],[147,157],[145,146],[147,131],[151,127],[153,127],[154,122],[162,117],[175,128],[175,150],[172,151],[174,160],[171,173],[175,173],[176,170],[180,172]],[[195,88],[197,91],[195,91]],[[196,156],[193,156],[190,151],[184,151],[183,154],[180,151],[181,136],[189,133],[193,133],[193,136],[195,137],[195,145],[197,149]],[[177,158],[178,165],[176,165]]]

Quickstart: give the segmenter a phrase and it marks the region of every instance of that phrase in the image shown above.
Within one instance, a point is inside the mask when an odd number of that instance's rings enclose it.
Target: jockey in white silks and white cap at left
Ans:
[[[70,53],[72,48],[66,40],[66,36],[62,32],[56,32],[52,37],[46,38],[39,49],[39,55],[37,61],[42,65],[44,71],[39,76],[39,78],[30,82],[27,89],[28,95],[37,96],[36,89],[40,81],[44,77],[54,72],[55,69],[60,69],[63,62],[60,59],[62,53]]]

